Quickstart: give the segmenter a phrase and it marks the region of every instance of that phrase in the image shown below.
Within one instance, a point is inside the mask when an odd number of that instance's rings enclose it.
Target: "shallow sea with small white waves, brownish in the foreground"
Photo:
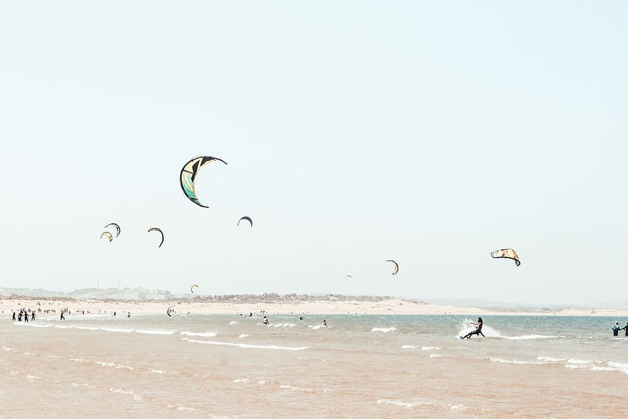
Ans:
[[[628,417],[628,319],[268,318],[6,317],[0,417]]]

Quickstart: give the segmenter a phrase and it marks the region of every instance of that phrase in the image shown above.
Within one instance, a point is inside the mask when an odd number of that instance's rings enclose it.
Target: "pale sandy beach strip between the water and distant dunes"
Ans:
[[[427,304],[402,300],[398,298],[379,300],[297,300],[297,301],[247,301],[247,302],[215,302],[194,301],[190,299],[172,298],[167,300],[112,300],[112,299],[74,299],[74,298],[37,298],[17,297],[0,298],[0,311],[3,315],[11,315],[12,311],[21,308],[31,309],[41,314],[59,314],[68,309],[71,314],[165,314],[168,306],[175,306],[178,313],[190,314],[234,314],[270,313],[270,314],[353,314],[353,315],[569,315],[569,316],[600,316],[618,318],[628,317],[628,309],[556,309],[556,310],[511,310],[485,309],[473,306],[451,306]],[[46,313],[49,311],[49,313]]]

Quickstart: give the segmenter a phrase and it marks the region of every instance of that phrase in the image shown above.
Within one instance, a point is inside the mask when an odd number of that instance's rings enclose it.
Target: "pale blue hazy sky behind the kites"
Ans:
[[[3,2],[0,286],[623,298],[627,16],[620,1]],[[228,162],[197,177],[210,208],[179,186],[197,155]],[[504,247],[521,266],[491,259]]]

